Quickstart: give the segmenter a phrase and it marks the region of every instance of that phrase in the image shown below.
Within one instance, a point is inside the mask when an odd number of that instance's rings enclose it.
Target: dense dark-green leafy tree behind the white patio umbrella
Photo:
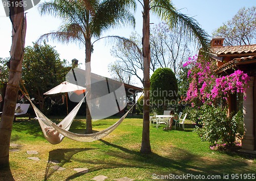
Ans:
[[[63,82],[70,69],[67,61],[61,61],[57,51],[46,42],[25,48],[22,77],[29,95],[38,100],[40,110],[45,108],[43,94]]]

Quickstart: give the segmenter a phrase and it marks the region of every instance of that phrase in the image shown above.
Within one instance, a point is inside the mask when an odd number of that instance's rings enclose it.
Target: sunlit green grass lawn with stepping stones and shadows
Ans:
[[[111,126],[118,118],[93,122],[94,130]],[[58,120],[56,120],[58,122]],[[84,132],[85,122],[76,119],[70,131]],[[91,180],[105,175],[114,180],[129,177],[134,180],[203,180],[204,176],[217,176],[219,180],[243,180],[256,172],[255,157],[225,150],[211,150],[209,143],[201,142],[193,131],[194,125],[186,121],[185,130],[166,131],[151,124],[151,154],[140,153],[142,119],[126,118],[117,129],[102,140],[81,143],[65,138],[58,145],[46,141],[37,121],[13,123],[11,143],[20,146],[20,151],[10,152],[10,171],[1,171],[0,180]],[[12,147],[11,147],[12,149]],[[27,150],[38,151],[28,155]],[[27,157],[36,156],[40,161]],[[57,160],[63,171],[53,170]],[[86,173],[77,173],[74,168],[88,168]],[[237,174],[237,175],[235,175]],[[186,177],[186,176],[191,177]],[[229,179],[224,179],[224,175]],[[176,176],[176,177],[175,177]],[[185,177],[183,177],[185,176]],[[239,179],[232,179],[239,176]],[[214,180],[214,179],[213,179]],[[217,180],[217,179],[215,179]]]

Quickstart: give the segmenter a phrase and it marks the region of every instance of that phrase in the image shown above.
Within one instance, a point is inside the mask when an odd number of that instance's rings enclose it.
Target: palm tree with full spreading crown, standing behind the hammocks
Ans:
[[[136,8],[134,3],[121,0],[52,0],[39,6],[41,14],[51,14],[62,18],[59,30],[42,35],[39,39],[51,38],[63,43],[77,42],[86,51],[87,116],[86,133],[92,133],[92,118],[89,111],[91,90],[91,53],[92,38],[99,38],[103,31],[112,27],[130,24],[135,26],[135,18],[129,8]]]

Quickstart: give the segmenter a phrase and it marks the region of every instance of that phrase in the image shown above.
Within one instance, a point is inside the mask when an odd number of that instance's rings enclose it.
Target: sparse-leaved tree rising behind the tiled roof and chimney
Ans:
[[[231,20],[212,32],[212,35],[225,38],[225,46],[256,43],[256,6],[241,8]]]

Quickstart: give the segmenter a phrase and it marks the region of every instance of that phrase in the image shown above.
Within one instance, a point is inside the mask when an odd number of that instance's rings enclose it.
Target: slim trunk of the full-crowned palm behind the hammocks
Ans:
[[[91,41],[86,39],[86,133],[93,133],[92,128],[92,116],[90,113],[89,106],[91,106]]]

